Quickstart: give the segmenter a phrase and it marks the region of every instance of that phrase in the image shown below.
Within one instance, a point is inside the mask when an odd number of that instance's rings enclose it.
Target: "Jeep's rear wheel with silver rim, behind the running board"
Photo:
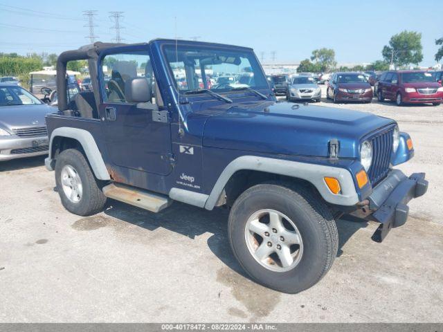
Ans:
[[[77,149],[66,149],[57,157],[55,183],[62,205],[73,214],[90,216],[105,207],[106,196],[98,187],[87,160]]]

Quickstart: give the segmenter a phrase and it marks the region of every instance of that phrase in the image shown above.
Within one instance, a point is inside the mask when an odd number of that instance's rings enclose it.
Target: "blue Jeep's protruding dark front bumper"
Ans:
[[[394,169],[368,197],[369,209],[374,211],[371,218],[381,223],[372,235],[372,240],[381,242],[392,228],[406,223],[411,199],[422,196],[428,190],[424,173],[414,173],[407,177],[399,169]]]

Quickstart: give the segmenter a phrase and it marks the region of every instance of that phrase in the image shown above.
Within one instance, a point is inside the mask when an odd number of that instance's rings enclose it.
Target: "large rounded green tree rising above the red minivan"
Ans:
[[[422,62],[422,49],[422,34],[404,30],[390,38],[389,45],[383,47],[381,54],[390,64],[406,66]]]

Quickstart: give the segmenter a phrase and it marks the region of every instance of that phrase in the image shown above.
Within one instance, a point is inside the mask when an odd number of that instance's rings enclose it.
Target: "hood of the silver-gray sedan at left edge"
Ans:
[[[15,105],[0,107],[0,127],[8,131],[21,127],[46,126],[45,116],[57,113],[57,109],[46,104]]]

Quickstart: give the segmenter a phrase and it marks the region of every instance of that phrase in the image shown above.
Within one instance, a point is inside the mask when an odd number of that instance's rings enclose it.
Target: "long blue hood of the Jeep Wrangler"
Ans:
[[[340,141],[339,156],[359,156],[363,136],[394,123],[371,113],[290,102],[223,104],[202,111],[208,120],[203,145],[266,154],[328,156],[329,140]]]

